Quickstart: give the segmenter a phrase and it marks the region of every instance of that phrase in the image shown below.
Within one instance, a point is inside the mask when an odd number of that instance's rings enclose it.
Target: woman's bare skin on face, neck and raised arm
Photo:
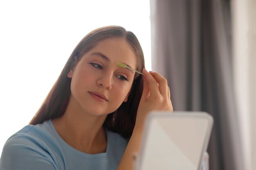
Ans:
[[[111,38],[99,42],[70,70],[67,74],[72,78],[69,104],[63,116],[52,121],[67,144],[84,153],[106,152],[103,122],[108,113],[128,100],[135,75],[135,72],[121,68],[115,62],[136,68],[136,59],[126,40]],[[166,79],[157,72],[145,69],[142,72],[144,90],[135,128],[118,170],[133,169],[134,154],[139,151],[146,115],[153,110],[173,111]]]

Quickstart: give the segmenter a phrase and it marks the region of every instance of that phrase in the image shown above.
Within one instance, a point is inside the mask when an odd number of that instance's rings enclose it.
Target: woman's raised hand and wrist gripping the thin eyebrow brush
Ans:
[[[137,110],[135,129],[142,129],[146,116],[150,111],[173,111],[170,99],[170,89],[167,80],[157,72],[142,70],[144,75],[144,89]]]

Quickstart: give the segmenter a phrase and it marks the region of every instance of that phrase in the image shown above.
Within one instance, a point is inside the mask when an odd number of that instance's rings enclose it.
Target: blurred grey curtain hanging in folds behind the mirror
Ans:
[[[150,0],[152,69],[165,76],[174,110],[214,118],[210,170],[243,170],[231,61],[228,0]]]

